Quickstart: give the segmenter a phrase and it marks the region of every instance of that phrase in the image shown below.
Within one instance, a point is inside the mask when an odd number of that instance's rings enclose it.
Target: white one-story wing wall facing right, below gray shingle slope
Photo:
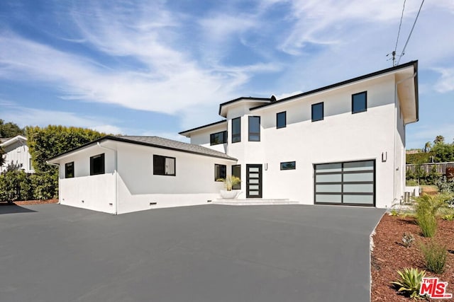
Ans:
[[[219,198],[222,182],[214,165],[234,161],[148,146],[116,143],[119,214],[143,209],[207,204]],[[175,176],[153,175],[153,154],[175,157]],[[152,203],[152,204],[150,204]],[[156,203],[156,204],[153,204]]]

